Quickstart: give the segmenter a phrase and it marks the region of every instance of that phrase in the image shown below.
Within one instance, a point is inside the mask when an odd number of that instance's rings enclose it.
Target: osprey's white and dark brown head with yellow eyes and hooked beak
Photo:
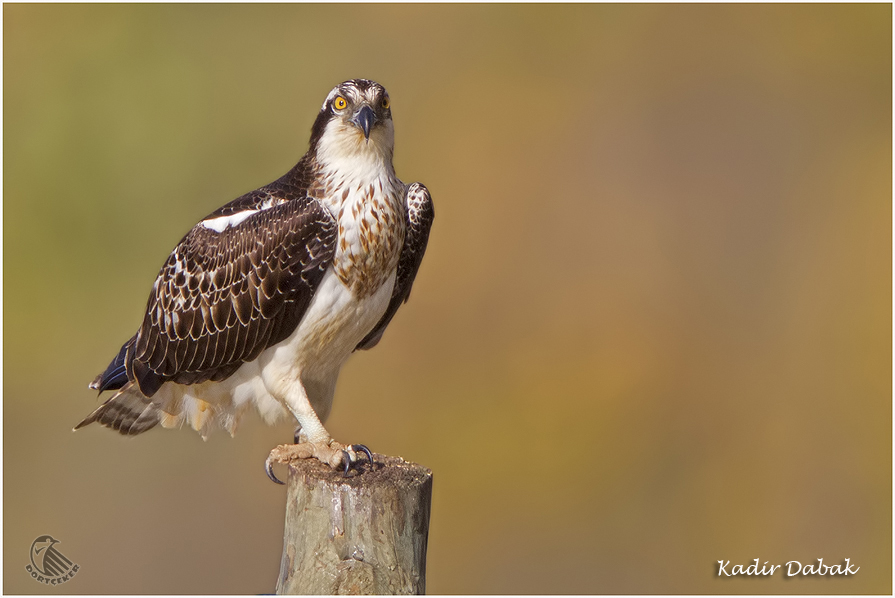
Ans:
[[[395,147],[388,92],[374,81],[352,79],[336,85],[311,129],[311,151],[323,163],[384,160]]]

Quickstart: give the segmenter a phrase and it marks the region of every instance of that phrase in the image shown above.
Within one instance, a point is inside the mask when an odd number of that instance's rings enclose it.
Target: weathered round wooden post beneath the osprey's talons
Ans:
[[[424,594],[431,470],[374,455],[342,477],[289,465],[277,594]]]

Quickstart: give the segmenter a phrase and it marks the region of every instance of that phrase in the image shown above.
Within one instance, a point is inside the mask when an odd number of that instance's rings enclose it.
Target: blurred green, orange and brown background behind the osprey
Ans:
[[[272,592],[292,426],[72,426],[168,252],[392,98],[437,218],[335,438],[435,473],[430,593],[892,591],[891,6],[3,7],[3,590]],[[849,558],[848,578],[716,577]]]

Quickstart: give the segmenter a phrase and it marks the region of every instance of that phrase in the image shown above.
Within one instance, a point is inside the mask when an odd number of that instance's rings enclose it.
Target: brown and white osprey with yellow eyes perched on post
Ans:
[[[435,212],[392,166],[388,93],[354,79],[326,97],[292,170],[209,214],[152,285],[137,333],[90,388],[115,391],[75,426],[140,434],[188,423],[233,435],[254,405],[287,413],[295,444],[273,462],[317,458],[348,472],[363,445],[323,422],[353,351],[374,347],[410,295]]]

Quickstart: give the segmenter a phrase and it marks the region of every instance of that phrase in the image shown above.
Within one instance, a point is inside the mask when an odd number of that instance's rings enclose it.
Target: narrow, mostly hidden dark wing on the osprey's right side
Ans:
[[[407,186],[404,192],[404,214],[407,232],[404,236],[404,247],[401,248],[401,257],[398,260],[398,272],[395,276],[395,289],[392,291],[391,301],[379,323],[370,331],[370,334],[364,337],[364,340],[358,343],[355,351],[375,347],[398,312],[398,308],[410,298],[410,288],[413,286],[416,273],[423,261],[423,255],[426,253],[429,230],[432,228],[432,221],[435,220],[432,196],[422,183],[412,183]]]

